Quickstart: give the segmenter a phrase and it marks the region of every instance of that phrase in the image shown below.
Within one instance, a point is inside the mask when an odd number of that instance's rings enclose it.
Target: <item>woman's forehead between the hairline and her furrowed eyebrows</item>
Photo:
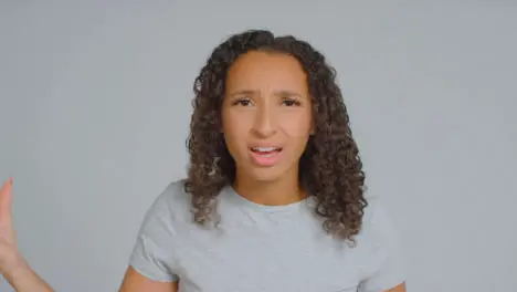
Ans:
[[[276,52],[249,52],[230,67],[226,88],[306,92],[307,76],[294,56]]]

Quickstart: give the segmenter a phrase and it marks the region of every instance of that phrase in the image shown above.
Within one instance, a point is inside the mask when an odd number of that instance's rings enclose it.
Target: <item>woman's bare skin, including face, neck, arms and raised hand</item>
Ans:
[[[313,133],[306,75],[286,54],[250,52],[235,61],[226,79],[222,128],[235,160],[234,188],[262,205],[286,205],[307,195],[298,185],[298,160]],[[274,166],[258,166],[250,156],[257,145],[282,147]],[[0,272],[20,292],[53,291],[20,255],[11,216],[12,180],[0,192]],[[120,292],[177,292],[178,283],[151,281],[128,267]],[[405,292],[405,284],[384,292]]]

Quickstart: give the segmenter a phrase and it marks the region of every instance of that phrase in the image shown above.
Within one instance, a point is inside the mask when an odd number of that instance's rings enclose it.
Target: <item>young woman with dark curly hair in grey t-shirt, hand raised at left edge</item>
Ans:
[[[194,93],[188,177],[148,210],[122,292],[405,291],[324,55],[245,31],[214,49]],[[18,291],[51,291],[15,251],[10,186],[0,271]]]

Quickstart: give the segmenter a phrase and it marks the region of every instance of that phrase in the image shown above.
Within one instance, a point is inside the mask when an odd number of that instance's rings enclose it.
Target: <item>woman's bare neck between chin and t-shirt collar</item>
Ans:
[[[239,171],[233,184],[235,191],[256,204],[266,206],[282,206],[297,202],[307,197],[298,181],[296,174],[286,174],[284,177],[272,181],[250,179]]]

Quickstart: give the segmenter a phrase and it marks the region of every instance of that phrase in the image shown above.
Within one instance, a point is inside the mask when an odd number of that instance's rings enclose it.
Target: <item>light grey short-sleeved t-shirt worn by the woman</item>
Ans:
[[[232,187],[219,195],[220,225],[192,221],[182,181],[171,182],[147,211],[130,265],[180,292],[380,292],[405,279],[395,230],[369,199],[356,247],[321,228],[309,198],[262,206]]]

